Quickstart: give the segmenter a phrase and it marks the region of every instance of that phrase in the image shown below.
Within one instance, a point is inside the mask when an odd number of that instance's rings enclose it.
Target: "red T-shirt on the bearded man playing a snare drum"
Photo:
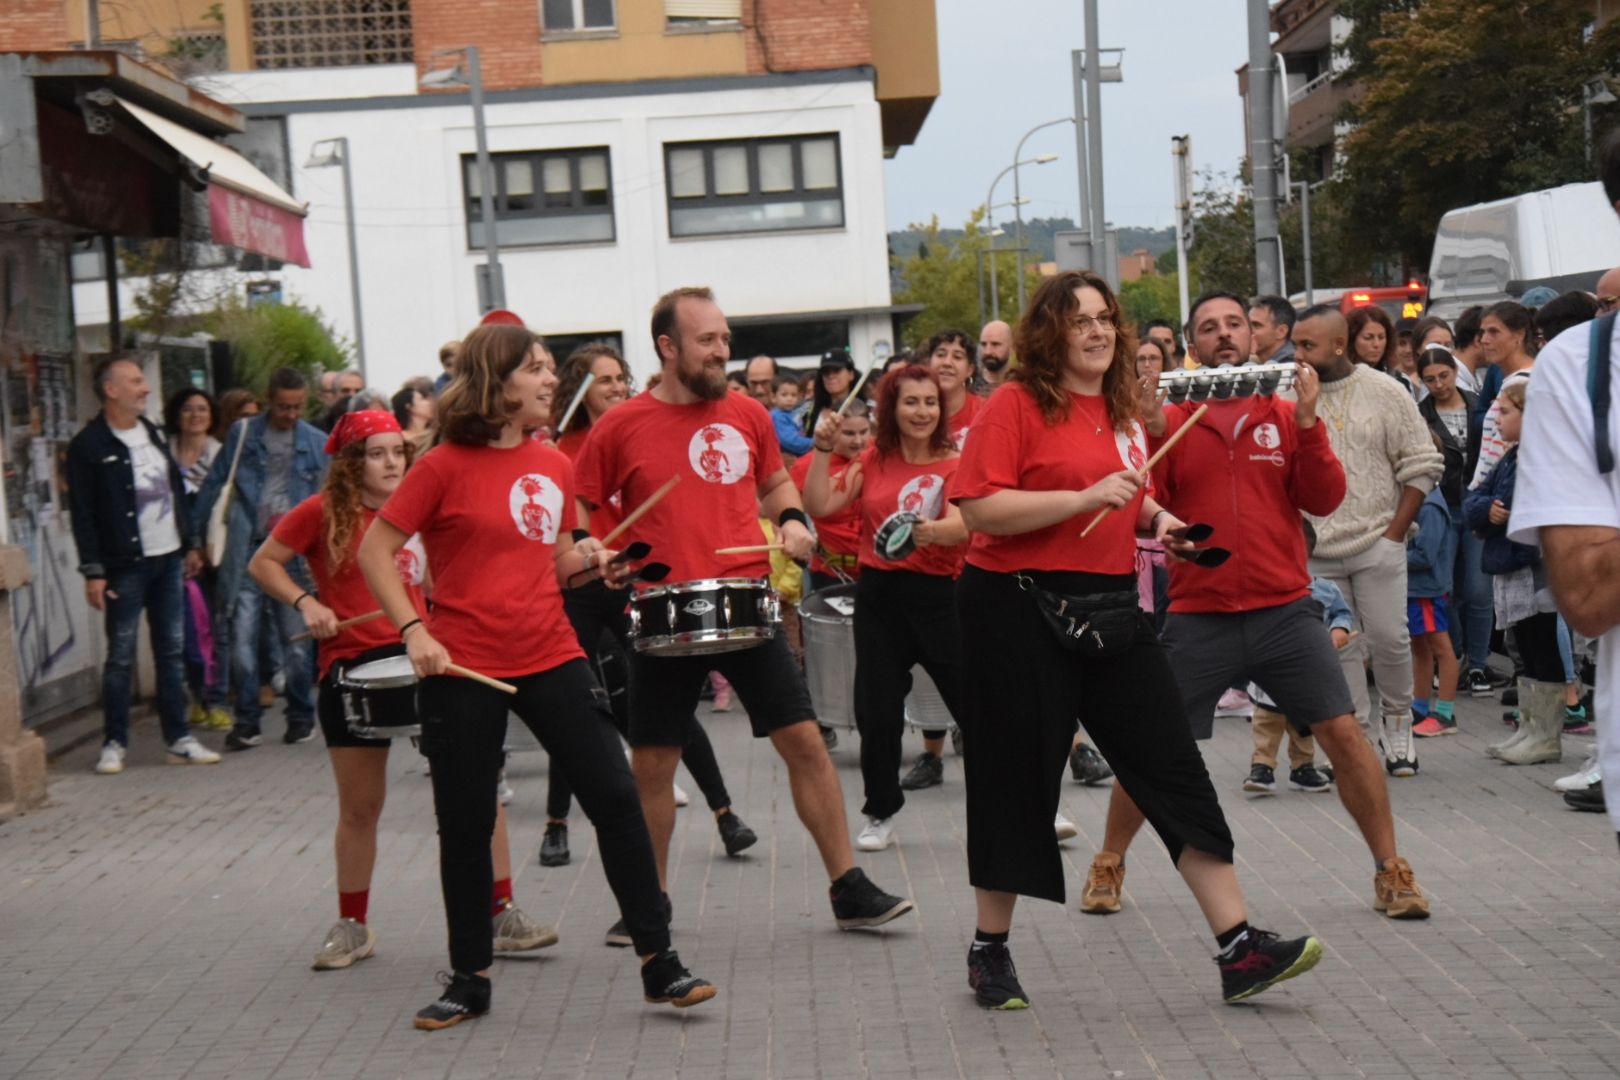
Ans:
[[[765,578],[770,552],[716,555],[714,549],[765,542],[758,486],[781,468],[771,415],[747,393],[692,405],[638,393],[591,426],[578,486],[595,507],[617,492],[630,513],[679,476],[674,491],[630,526],[653,546],[650,559],[669,563],[671,583]]]

